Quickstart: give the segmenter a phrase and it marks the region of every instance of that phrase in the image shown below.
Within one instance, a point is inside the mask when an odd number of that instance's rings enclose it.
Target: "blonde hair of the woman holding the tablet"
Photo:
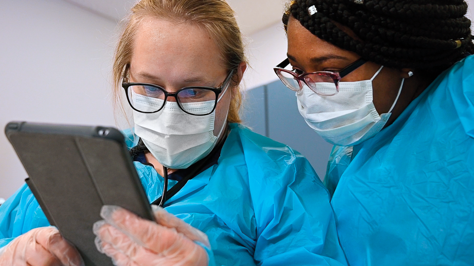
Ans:
[[[237,70],[242,62],[246,62],[242,35],[237,26],[234,10],[225,0],[140,0],[124,18],[123,31],[120,34],[114,56],[113,66],[113,98],[114,107],[119,106],[122,112],[121,82],[125,66],[130,64],[133,54],[133,43],[138,26],[143,18],[154,17],[175,21],[177,23],[192,23],[202,27],[213,37],[219,47],[221,57],[227,70]],[[238,111],[242,101],[238,76],[235,71],[232,78],[232,100],[227,121],[240,123]]]

